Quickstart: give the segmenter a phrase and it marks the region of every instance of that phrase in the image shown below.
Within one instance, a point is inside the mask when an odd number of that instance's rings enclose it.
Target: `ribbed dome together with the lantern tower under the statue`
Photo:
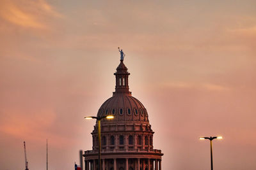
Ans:
[[[113,122],[148,122],[147,110],[129,92],[128,76],[130,73],[127,72],[123,60],[120,60],[114,74],[116,76],[115,92],[113,92],[113,97],[110,97],[100,106],[97,117],[114,115]],[[105,121],[108,120],[102,120],[102,122]]]

